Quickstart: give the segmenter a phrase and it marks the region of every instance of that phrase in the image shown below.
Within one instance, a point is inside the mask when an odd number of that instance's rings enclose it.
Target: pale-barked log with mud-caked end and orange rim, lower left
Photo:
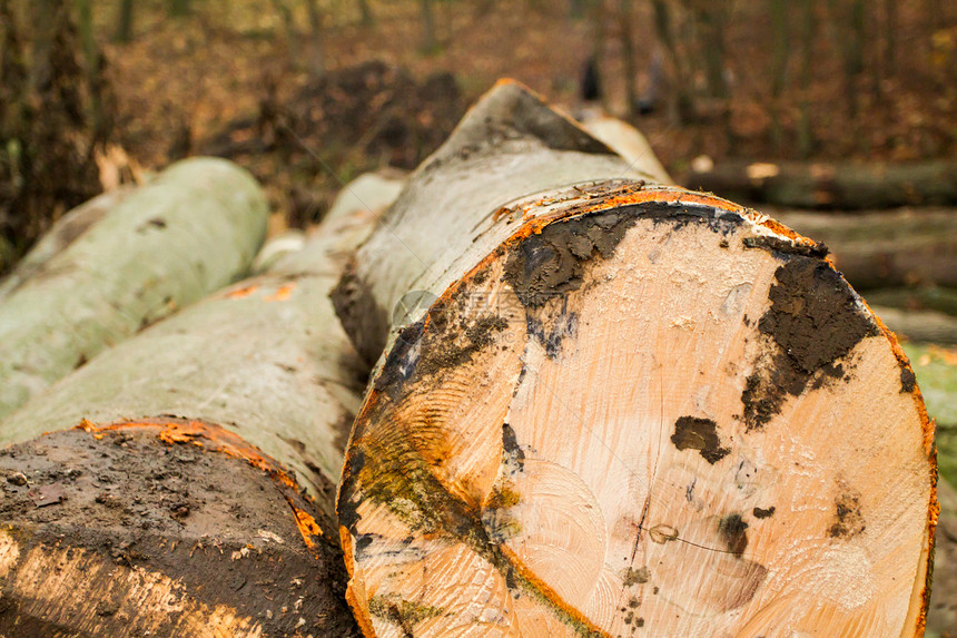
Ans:
[[[334,215],[0,423],[0,635],[358,634],[334,493],[367,370],[327,295],[374,218]]]

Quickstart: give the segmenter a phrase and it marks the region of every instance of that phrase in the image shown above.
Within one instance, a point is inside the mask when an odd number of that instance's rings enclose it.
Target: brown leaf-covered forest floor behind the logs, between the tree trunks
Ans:
[[[421,49],[418,2],[372,2],[372,26],[362,24],[357,3],[333,3],[322,47],[329,73],[317,79],[308,72],[305,13],[295,16],[297,33],[290,38],[279,16],[263,4],[203,0],[190,16],[170,18],[157,3],[138,3],[132,42],[101,39],[129,155],[149,168],[188,154],[229,156],[267,184],[274,206],[293,225],[317,218],[341,181],[359,171],[386,164],[413,168],[501,77],[519,79],[573,111],[593,50],[593,21],[572,19],[540,0],[435,2],[437,46],[428,55]],[[644,24],[634,33],[640,91],[648,88],[659,48],[647,4],[635,3],[637,23]],[[727,62],[734,70],[730,128],[716,116],[713,100],[704,99],[698,120],[679,125],[667,108],[667,80],[659,108],[634,121],[679,179],[700,155],[767,160],[795,153],[798,96],[786,94],[777,107],[769,101],[770,35],[751,4],[739,10],[728,32]],[[861,77],[856,111],[842,98],[847,87],[835,53],[840,35],[822,27],[815,81],[801,96],[811,104],[815,159],[899,161],[957,153],[957,87],[945,81],[950,71],[938,69],[957,62],[957,30],[929,42],[919,18],[905,14],[912,6],[900,9],[901,72],[894,79]],[[97,16],[98,32],[110,33],[114,20],[110,10]],[[619,27],[613,14],[604,24],[603,102],[622,115]],[[926,61],[921,57],[930,57],[929,67],[918,63]],[[388,77],[381,69],[369,73],[371,61],[384,62]],[[703,90],[702,82],[697,77],[693,89]],[[772,108],[783,126],[777,144]]]

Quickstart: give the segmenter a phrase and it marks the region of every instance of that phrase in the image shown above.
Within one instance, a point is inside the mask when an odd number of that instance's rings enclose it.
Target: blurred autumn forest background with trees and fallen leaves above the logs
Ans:
[[[303,226],[339,180],[413,168],[502,76],[601,102],[680,181],[699,156],[957,155],[941,0],[0,0],[0,272],[187,155],[246,166]]]

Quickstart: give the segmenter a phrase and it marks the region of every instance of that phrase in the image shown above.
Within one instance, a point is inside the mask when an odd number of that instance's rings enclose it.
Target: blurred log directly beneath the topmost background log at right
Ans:
[[[858,289],[957,287],[957,215],[953,210],[832,215],[772,212],[776,219],[823,242],[836,267]]]

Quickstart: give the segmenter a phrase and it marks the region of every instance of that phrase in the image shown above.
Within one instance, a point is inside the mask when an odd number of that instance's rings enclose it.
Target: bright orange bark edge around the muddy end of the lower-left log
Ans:
[[[315,539],[325,534],[318,522],[316,522],[316,519],[296,502],[298,499],[305,499],[307,503],[312,503],[312,499],[299,489],[295,479],[289,475],[278,461],[264,454],[258,448],[235,432],[230,432],[215,423],[172,418],[120,421],[106,425],[97,425],[83,419],[75,429],[88,432],[95,439],[99,440],[103,438],[103,432],[140,428],[155,430],[156,436],[167,445],[196,445],[208,452],[218,452],[246,461],[254,468],[262,470],[266,475],[279,483],[282,488],[285,488],[283,495],[293,511],[296,528],[299,530],[306,548],[315,554],[317,550]],[[290,491],[292,493],[289,493]]]

